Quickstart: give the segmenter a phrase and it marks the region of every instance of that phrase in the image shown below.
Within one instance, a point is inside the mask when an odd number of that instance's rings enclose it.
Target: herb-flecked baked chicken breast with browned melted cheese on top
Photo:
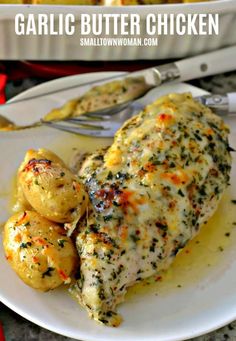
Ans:
[[[131,118],[80,171],[90,197],[73,292],[106,325],[135,282],[167,268],[213,214],[229,181],[229,130],[190,94]]]

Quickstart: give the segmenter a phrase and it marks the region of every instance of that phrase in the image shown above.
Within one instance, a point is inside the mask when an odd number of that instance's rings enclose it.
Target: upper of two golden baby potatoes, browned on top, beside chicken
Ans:
[[[28,151],[19,168],[18,183],[33,209],[49,220],[75,223],[87,207],[83,185],[50,151]]]

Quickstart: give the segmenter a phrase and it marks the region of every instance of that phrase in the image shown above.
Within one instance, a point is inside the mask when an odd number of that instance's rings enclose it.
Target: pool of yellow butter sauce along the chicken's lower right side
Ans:
[[[158,275],[135,284],[128,290],[126,300],[137,294],[164,296],[174,290],[199,282],[218,266],[236,242],[236,204],[230,189],[224,194],[218,209],[199,234],[180,251],[172,265]]]

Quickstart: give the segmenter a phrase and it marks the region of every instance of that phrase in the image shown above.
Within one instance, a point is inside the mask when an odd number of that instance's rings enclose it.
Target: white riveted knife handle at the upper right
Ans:
[[[183,82],[233,71],[236,70],[236,45],[182,59],[174,64],[179,70],[179,81]]]

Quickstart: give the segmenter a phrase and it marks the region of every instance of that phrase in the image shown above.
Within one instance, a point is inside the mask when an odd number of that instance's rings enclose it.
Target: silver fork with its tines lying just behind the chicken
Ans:
[[[226,95],[203,95],[195,97],[201,104],[213,109],[218,115],[226,116],[236,113],[236,92]],[[88,135],[94,137],[113,137],[122,124],[142,110],[144,105],[139,102],[127,103],[122,111],[93,116],[91,113],[78,118],[69,118],[60,122],[41,121],[42,125],[66,131],[69,133]]]

